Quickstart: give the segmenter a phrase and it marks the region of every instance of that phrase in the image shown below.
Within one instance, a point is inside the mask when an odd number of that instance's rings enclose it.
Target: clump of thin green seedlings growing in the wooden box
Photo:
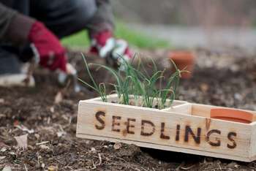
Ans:
[[[162,82],[166,79],[164,77],[165,69],[162,71],[157,69],[157,65],[153,59],[151,59],[153,73],[149,75],[148,72],[146,72],[146,67],[143,62],[140,61],[140,58],[136,67],[135,64],[132,64],[135,57],[129,62],[125,61],[122,56],[119,56],[119,58],[124,61],[124,70],[122,71],[116,71],[115,69],[102,64],[87,64],[86,58],[83,56],[83,61],[86,64],[86,71],[89,73],[92,85],[83,80],[79,80],[96,91],[99,96],[101,96],[103,102],[108,102],[106,95],[106,85],[108,85],[113,88],[112,92],[118,94],[119,104],[129,105],[133,101],[136,106],[155,107],[158,109],[165,108],[172,104],[173,100],[176,98],[176,90],[178,88],[181,72],[186,72],[185,70],[179,70],[172,61],[173,66],[176,68],[176,72],[170,75],[170,77],[167,77],[166,84],[163,85]],[[89,70],[90,65],[106,69],[113,75],[113,77],[115,77],[116,83],[99,83],[99,85],[97,85]],[[160,87],[157,86],[158,83],[160,84]]]

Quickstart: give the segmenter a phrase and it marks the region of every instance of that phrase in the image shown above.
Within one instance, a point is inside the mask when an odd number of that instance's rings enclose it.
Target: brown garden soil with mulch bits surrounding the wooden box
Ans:
[[[80,53],[69,51],[79,77],[89,80]],[[167,64],[166,50],[140,50],[140,56]],[[239,49],[197,49],[194,77],[182,80],[177,99],[256,110],[256,53]],[[89,61],[95,61],[89,58]],[[97,81],[112,78],[94,69]],[[256,170],[244,163],[184,153],[148,150],[135,145],[82,140],[75,137],[78,101],[97,96],[74,93],[72,85],[54,103],[61,88],[55,75],[34,72],[36,88],[0,87],[0,170]],[[28,134],[28,148],[17,147],[15,137]]]

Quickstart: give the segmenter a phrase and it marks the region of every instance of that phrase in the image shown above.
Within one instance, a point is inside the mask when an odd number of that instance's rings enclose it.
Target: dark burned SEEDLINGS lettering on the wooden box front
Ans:
[[[110,126],[107,126],[107,123],[105,122],[106,116],[107,114],[102,111],[95,113],[95,129],[103,130],[107,127],[110,127],[111,132],[120,132],[120,134],[122,134],[124,137],[127,134],[140,134],[142,137],[150,137],[157,134],[161,140],[174,139],[176,142],[193,141],[197,145],[200,145],[200,142],[202,141],[206,141],[213,147],[222,145],[222,140],[218,136],[223,136],[223,134],[225,134],[227,139],[225,140],[225,146],[229,149],[236,148],[237,146],[236,132],[222,133],[222,131],[217,128],[209,129],[206,134],[203,134],[203,128],[200,126],[192,129],[192,126],[189,124],[181,127],[181,123],[176,123],[175,125],[167,125],[166,122],[154,122],[150,119],[141,119],[140,121],[137,121],[136,118],[122,118],[120,115],[112,115],[111,122],[109,123]],[[124,124],[124,126],[121,126],[121,124]],[[124,127],[124,129],[121,129],[121,127]],[[159,127],[160,129],[157,130],[156,127]]]

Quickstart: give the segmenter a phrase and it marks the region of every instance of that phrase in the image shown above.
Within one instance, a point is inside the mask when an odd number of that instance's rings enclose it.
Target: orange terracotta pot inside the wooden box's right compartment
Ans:
[[[251,123],[252,117],[252,113],[248,113],[243,110],[232,110],[223,108],[211,109],[211,118],[222,119],[225,121]]]

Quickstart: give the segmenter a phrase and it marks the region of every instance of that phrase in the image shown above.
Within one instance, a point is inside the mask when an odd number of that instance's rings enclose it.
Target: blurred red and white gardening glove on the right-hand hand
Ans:
[[[124,69],[124,62],[132,58],[128,43],[115,39],[108,30],[92,35],[90,53],[105,58],[108,64],[119,66],[119,69]]]

